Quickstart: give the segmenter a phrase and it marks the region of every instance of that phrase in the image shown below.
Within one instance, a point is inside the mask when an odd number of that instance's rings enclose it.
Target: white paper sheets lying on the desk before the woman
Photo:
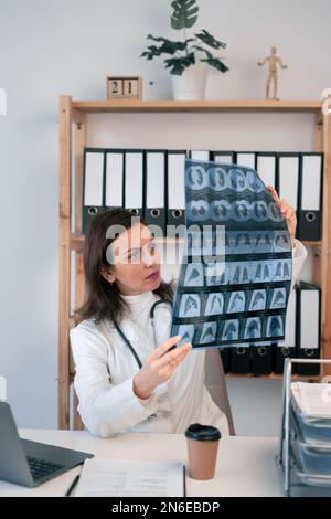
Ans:
[[[76,497],[181,497],[184,466],[171,462],[86,459]]]

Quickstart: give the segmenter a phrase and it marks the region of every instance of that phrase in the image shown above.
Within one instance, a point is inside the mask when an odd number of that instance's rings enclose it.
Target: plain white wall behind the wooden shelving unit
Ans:
[[[222,54],[231,72],[212,71],[209,98],[264,98],[266,70],[256,61],[273,44],[289,64],[279,74],[282,99],[319,99],[331,85],[328,0],[199,3],[199,29],[228,44]],[[20,426],[56,426],[57,97],[105,99],[106,75],[136,74],[143,77],[146,99],[170,98],[161,62],[139,59],[149,32],[171,36],[169,6],[170,0],[0,0],[0,86],[8,94],[8,115],[0,117],[0,374],[8,379]],[[311,123],[309,115],[106,116],[88,141],[299,150],[312,148]],[[233,379],[229,389],[238,433],[277,434],[279,384]]]

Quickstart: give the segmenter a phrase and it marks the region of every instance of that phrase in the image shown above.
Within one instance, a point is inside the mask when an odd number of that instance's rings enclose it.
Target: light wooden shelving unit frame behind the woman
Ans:
[[[312,282],[322,288],[322,356],[331,358],[331,116],[323,115],[319,102],[74,102],[60,97],[60,299],[58,299],[58,427],[81,428],[82,423],[71,407],[70,386],[74,370],[70,350],[70,329],[75,325],[71,316],[71,257],[75,251],[74,305],[84,298],[82,198],[83,152],[89,114],[116,113],[311,113],[314,115],[314,151],[324,151],[323,234],[313,246],[316,265]],[[75,215],[72,230],[72,184],[75,184]],[[323,374],[331,374],[324,370]],[[245,375],[246,377],[246,375]],[[270,375],[271,379],[279,375]],[[301,378],[302,379],[302,378]],[[308,377],[314,380],[312,377]],[[76,409],[74,396],[73,407]],[[71,424],[71,414],[73,424]]]

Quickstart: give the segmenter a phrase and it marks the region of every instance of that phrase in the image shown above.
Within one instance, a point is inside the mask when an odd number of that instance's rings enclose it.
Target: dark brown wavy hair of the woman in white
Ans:
[[[88,225],[84,245],[84,274],[85,274],[85,300],[75,310],[75,320],[79,322],[84,319],[93,318],[96,324],[104,319],[110,319],[113,324],[118,324],[122,318],[125,309],[128,307],[122,299],[116,282],[110,284],[100,274],[103,266],[109,266],[106,257],[107,247],[118,236],[106,237],[107,230],[111,225],[121,225],[130,229],[132,213],[124,209],[111,209],[96,214]],[[140,219],[140,223],[146,222]],[[161,279],[159,287],[153,290],[161,299],[172,301],[174,294],[174,282],[166,283]]]

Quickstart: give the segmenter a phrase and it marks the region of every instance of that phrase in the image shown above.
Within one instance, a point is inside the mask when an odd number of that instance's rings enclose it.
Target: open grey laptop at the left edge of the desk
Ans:
[[[0,479],[36,487],[92,458],[93,454],[21,439],[7,402],[0,401]]]

